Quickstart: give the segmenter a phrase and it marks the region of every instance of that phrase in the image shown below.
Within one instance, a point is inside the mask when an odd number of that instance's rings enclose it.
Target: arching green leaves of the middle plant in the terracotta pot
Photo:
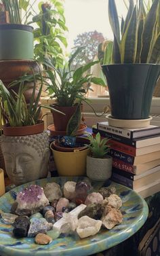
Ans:
[[[75,57],[83,48],[78,48],[74,54],[71,55],[63,69],[57,69],[52,65],[52,60],[45,60],[43,62],[49,69],[45,71],[45,84],[51,98],[56,98],[56,102],[62,107],[71,107],[75,103],[85,100],[85,95],[89,90],[90,83],[105,86],[102,79],[93,77],[92,74],[87,74],[86,71],[98,61],[89,62],[77,69],[72,69],[72,63]]]

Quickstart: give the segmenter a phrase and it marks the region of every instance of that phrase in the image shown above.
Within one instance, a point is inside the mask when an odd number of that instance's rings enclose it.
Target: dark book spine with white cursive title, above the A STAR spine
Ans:
[[[117,158],[127,164],[134,164],[134,156],[129,156],[126,153],[117,151],[115,149],[110,149],[108,154],[113,158]]]

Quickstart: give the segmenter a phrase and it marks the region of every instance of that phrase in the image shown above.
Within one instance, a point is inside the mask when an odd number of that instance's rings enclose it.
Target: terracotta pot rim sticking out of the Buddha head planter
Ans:
[[[43,132],[44,122],[39,122],[33,126],[3,126],[3,134],[5,136],[24,136],[24,135],[33,135]]]

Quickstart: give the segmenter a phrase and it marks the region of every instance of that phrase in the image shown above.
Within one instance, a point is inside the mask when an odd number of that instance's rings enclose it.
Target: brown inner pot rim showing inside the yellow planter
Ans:
[[[58,139],[56,139],[53,142],[54,149],[61,151],[61,152],[74,152],[74,151],[81,151],[83,149],[86,149],[87,146],[85,144],[89,144],[89,140],[87,138],[83,137],[77,137],[76,143],[81,144],[80,147],[62,147],[60,143],[58,142]]]

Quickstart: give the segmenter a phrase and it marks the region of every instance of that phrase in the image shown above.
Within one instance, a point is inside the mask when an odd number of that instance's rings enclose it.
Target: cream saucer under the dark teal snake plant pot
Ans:
[[[138,119],[138,120],[123,120],[123,119],[115,119],[112,115],[107,115],[106,119],[108,120],[109,126],[115,126],[119,128],[145,128],[150,125],[153,117],[148,117],[146,119]]]

